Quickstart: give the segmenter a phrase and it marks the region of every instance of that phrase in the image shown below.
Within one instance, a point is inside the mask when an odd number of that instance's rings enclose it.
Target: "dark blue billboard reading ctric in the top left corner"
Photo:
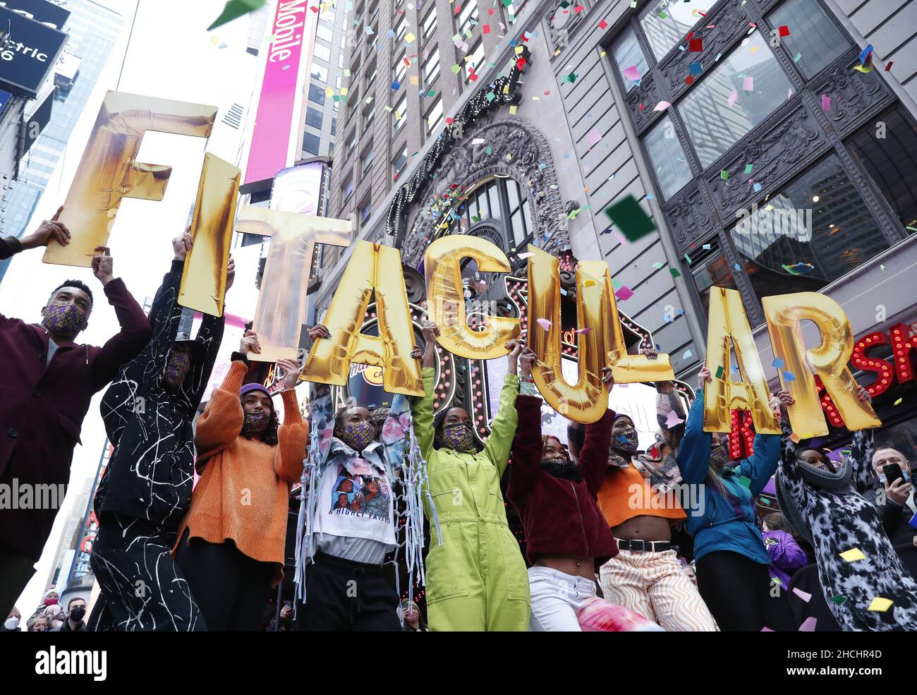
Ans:
[[[0,89],[34,99],[67,35],[0,7]]]

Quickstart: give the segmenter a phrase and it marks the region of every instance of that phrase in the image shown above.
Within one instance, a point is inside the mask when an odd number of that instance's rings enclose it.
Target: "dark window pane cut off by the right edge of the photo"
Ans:
[[[917,131],[900,107],[878,122],[885,124],[884,128],[870,121],[847,141],[847,147],[876,182],[901,225],[910,227],[912,234],[917,232]]]

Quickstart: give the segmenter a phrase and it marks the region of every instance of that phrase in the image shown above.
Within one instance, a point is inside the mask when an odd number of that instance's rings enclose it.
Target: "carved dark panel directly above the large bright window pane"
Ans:
[[[698,25],[701,29],[697,36],[703,39],[703,50],[694,52],[687,49],[678,50],[678,47],[670,50],[658,65],[665,89],[673,97],[668,101],[674,104],[675,99],[688,89],[689,85],[685,83],[685,78],[691,74],[689,64],[700,62],[704,72],[713,70],[717,64],[716,56],[728,52],[737,39],[745,36],[750,21],[754,21],[754,17],[750,8],[746,7],[746,3],[743,0],[729,0]],[[713,25],[712,29],[705,28],[711,25]],[[684,43],[682,42],[682,45]],[[703,74],[698,75],[695,79],[700,79],[702,76]]]

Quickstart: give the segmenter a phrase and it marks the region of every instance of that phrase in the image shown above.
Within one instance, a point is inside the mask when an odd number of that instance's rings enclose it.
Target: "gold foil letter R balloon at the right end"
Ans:
[[[789,408],[793,433],[801,439],[828,434],[809,365],[821,377],[848,430],[881,425],[872,406],[856,397],[856,381],[847,369],[854,336],[841,305],[818,292],[778,294],[764,297],[762,303],[774,356],[784,360],[780,381],[796,399]],[[802,336],[802,321],[806,319],[822,334],[821,344],[810,350]]]

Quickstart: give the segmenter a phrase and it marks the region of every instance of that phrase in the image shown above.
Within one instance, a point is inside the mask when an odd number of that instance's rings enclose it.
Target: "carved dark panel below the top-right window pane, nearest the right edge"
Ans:
[[[819,103],[822,94],[831,98],[831,107],[825,116],[842,138],[862,126],[864,118],[877,114],[895,98],[878,68],[873,68],[872,72],[857,72],[853,65],[858,63],[854,59],[839,64],[813,90]]]

